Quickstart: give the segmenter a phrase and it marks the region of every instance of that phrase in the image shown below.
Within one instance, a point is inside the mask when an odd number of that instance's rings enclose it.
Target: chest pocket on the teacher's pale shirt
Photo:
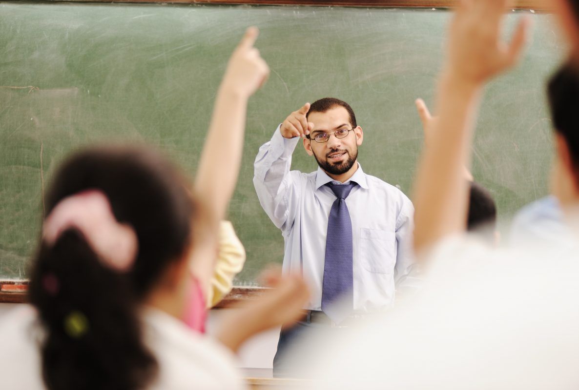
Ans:
[[[374,273],[392,273],[398,243],[394,232],[360,229],[360,259],[364,269]]]

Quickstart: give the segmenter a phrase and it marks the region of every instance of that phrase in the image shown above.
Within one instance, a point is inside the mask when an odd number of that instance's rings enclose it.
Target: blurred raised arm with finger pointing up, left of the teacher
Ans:
[[[239,175],[247,102],[269,75],[267,64],[253,47],[257,36],[257,28],[248,28],[229,59],[199,160],[194,190],[204,210],[204,224],[196,230],[191,269],[203,291],[210,289],[219,221],[225,217]]]

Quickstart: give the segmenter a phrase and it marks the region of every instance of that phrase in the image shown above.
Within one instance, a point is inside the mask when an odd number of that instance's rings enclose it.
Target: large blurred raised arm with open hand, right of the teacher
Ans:
[[[461,0],[449,29],[448,54],[437,91],[438,118],[427,134],[416,172],[414,249],[464,232],[468,209],[465,167],[482,87],[521,57],[529,19],[522,18],[510,43],[500,38],[510,1]]]

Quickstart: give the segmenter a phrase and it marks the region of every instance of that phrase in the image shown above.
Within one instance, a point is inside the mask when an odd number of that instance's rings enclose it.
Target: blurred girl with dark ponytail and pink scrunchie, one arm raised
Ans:
[[[256,36],[248,29],[229,61],[193,194],[173,165],[145,148],[91,148],[56,172],[32,264],[31,305],[0,324],[4,387],[244,388],[231,352],[186,322],[206,315],[247,100],[268,72]],[[235,349],[255,330],[300,314],[303,282],[277,285],[251,307],[244,333],[229,326],[225,345]],[[263,311],[279,322],[263,321]]]

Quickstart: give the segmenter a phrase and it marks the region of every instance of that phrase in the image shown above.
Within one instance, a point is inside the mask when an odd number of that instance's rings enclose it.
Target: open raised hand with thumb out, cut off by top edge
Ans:
[[[521,18],[510,43],[500,39],[501,19],[508,0],[461,0],[450,24],[448,76],[481,86],[521,57],[530,19]]]

